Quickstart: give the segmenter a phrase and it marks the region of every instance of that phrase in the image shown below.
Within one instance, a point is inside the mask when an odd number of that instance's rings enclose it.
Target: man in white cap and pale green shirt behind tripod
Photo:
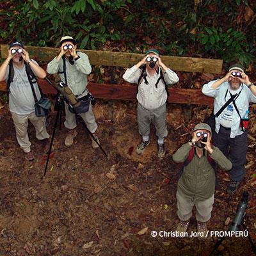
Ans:
[[[88,84],[87,76],[92,72],[89,58],[84,52],[77,52],[76,40],[72,36],[63,36],[60,40],[60,53],[47,65],[49,74],[60,74],[61,80],[68,85],[68,88],[76,95],[77,99],[81,99],[88,95],[89,91],[86,88]],[[70,147],[74,138],[77,136],[76,131],[76,115],[68,109],[68,104],[65,102],[65,122],[64,125],[68,129],[65,145]],[[89,131],[99,143],[99,138],[95,134],[97,123],[92,111],[92,103],[87,112],[79,114]],[[92,147],[99,148],[99,145],[92,140]]]

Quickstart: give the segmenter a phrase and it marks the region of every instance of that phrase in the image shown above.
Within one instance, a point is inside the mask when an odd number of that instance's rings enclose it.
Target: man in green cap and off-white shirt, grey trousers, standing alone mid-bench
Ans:
[[[136,148],[137,154],[143,154],[150,143],[150,124],[156,127],[157,156],[164,157],[164,138],[167,136],[166,102],[168,99],[167,84],[174,84],[179,77],[173,70],[166,67],[156,49],[145,52],[141,61],[128,68],[123,76],[125,81],[138,84],[138,126],[142,136]]]

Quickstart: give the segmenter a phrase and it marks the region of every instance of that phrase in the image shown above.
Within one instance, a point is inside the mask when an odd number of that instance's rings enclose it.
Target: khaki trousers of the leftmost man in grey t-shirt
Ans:
[[[45,117],[36,116],[35,112],[28,115],[18,115],[11,112],[13,124],[16,130],[16,138],[20,145],[20,148],[24,150],[25,153],[30,152],[31,142],[28,137],[28,120],[34,125],[36,129],[36,138],[38,140],[44,140],[50,138],[45,127]]]

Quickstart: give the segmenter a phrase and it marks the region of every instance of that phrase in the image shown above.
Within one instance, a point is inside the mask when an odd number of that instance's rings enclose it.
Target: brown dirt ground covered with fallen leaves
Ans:
[[[186,110],[186,109],[185,109]],[[156,156],[152,143],[143,156],[136,154],[140,141],[134,102],[99,100],[94,112],[102,148],[92,150],[90,137],[81,124],[74,145],[65,147],[65,127],[56,129],[45,179],[40,165],[43,146],[29,125],[29,138],[36,160],[28,162],[15,138],[12,118],[0,109],[0,255],[209,255],[219,237],[198,241],[196,237],[152,237],[153,230],[175,231],[179,222],[175,177],[179,166],[172,153],[189,140],[194,125],[204,120],[206,108],[191,107],[185,122],[183,106],[168,105],[167,154]],[[200,113],[200,114],[199,114]],[[56,113],[51,113],[52,134]],[[177,120],[179,116],[179,120]],[[254,131],[254,130],[253,130]],[[254,131],[255,132],[255,131]],[[251,135],[253,136],[252,132]],[[218,173],[209,230],[228,230],[243,191],[250,193],[246,226],[256,243],[255,142],[249,141],[246,176],[234,195],[227,195],[228,173]],[[170,181],[166,184],[166,180]],[[167,180],[168,181],[168,180]],[[145,234],[138,232],[144,229]],[[196,231],[195,215],[188,232]],[[144,233],[142,232],[142,233]],[[227,237],[214,255],[253,255],[246,237]]]

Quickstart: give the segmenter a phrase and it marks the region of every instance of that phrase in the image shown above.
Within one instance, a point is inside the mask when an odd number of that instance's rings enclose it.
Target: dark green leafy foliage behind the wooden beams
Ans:
[[[256,12],[253,0],[205,0],[196,6],[187,0],[10,0],[10,8],[0,12],[6,24],[0,37],[58,47],[61,36],[72,35],[79,49],[156,47],[161,54],[248,66],[256,57],[256,22],[247,26],[247,7]]]

